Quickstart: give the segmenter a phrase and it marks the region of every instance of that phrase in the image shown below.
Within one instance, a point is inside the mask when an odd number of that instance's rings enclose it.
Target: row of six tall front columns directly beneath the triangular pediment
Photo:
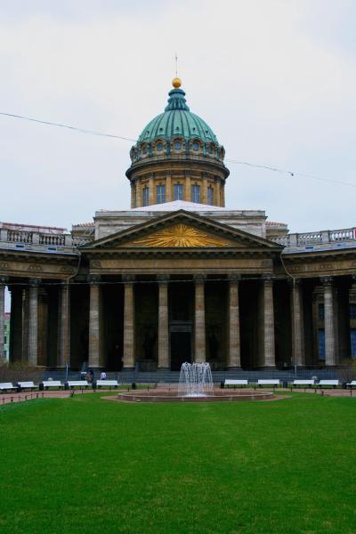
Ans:
[[[227,346],[227,368],[240,368],[240,333],[239,333],[239,275],[228,277],[228,320],[229,337]],[[158,275],[158,369],[171,368],[169,350],[169,310],[168,310],[168,284],[169,275]],[[124,282],[124,343],[123,368],[131,370],[136,363],[135,358],[135,310],[134,310],[134,283],[133,275],[123,277]],[[193,360],[206,361],[206,306],[205,284],[206,275],[193,276],[194,282],[194,349]],[[263,279],[263,356],[261,367],[275,367],[274,348],[274,313],[273,313],[273,281],[271,278]],[[99,298],[100,282],[93,280],[90,289],[89,312],[89,366],[101,367],[101,303]]]

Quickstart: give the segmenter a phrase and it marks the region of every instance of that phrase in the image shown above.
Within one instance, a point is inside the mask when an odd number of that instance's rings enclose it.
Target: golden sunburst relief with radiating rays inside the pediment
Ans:
[[[226,241],[214,239],[207,234],[191,228],[186,224],[176,224],[171,228],[134,241],[137,245],[146,247],[226,247]]]

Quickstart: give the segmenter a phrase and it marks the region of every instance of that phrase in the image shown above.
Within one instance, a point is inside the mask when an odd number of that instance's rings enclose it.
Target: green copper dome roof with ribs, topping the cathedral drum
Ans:
[[[157,139],[168,141],[175,137],[182,137],[186,142],[199,139],[202,142],[213,142],[219,145],[210,126],[198,115],[190,112],[184,96],[182,89],[170,91],[165,112],[153,118],[143,129],[138,143],[150,143]]]

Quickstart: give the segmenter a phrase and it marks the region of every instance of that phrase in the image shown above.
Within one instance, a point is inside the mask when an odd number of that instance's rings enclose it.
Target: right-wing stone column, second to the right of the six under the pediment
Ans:
[[[332,277],[321,280],[324,285],[325,364],[336,365],[335,295]]]

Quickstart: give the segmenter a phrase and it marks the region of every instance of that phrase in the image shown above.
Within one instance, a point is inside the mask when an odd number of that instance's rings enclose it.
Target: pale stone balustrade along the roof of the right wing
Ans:
[[[324,245],[326,243],[356,241],[356,227],[344,228],[341,230],[291,233],[287,234],[287,236],[271,239],[280,245],[284,245],[284,247],[304,247],[305,245]]]

